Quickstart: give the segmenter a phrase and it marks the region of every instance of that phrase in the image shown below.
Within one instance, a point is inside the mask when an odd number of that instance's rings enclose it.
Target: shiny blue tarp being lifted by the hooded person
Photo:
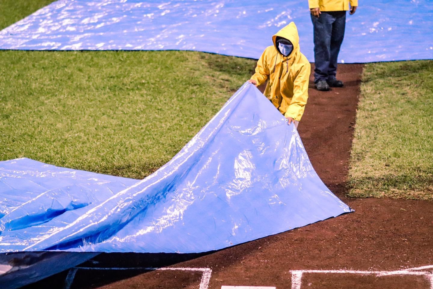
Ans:
[[[294,125],[248,83],[143,180],[0,162],[0,253],[204,252],[349,211]]]

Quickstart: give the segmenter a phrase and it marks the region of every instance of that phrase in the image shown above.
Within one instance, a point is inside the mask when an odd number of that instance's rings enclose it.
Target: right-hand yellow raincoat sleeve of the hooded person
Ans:
[[[291,117],[294,120],[301,120],[305,104],[308,99],[308,81],[310,78],[310,63],[302,66],[293,82],[293,97],[284,117]]]

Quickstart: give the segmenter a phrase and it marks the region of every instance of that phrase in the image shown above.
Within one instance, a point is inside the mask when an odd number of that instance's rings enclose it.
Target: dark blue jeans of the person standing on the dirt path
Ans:
[[[311,15],[314,28],[314,83],[335,79],[337,57],[346,27],[346,11],[323,11]]]

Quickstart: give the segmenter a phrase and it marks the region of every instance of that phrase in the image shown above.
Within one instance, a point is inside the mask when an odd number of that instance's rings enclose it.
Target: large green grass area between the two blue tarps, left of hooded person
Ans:
[[[200,52],[0,52],[0,159],[143,178],[251,75]]]

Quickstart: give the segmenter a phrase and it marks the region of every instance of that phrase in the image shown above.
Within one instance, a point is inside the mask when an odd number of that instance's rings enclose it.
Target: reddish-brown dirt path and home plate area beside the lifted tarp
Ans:
[[[103,253],[81,266],[141,269],[80,269],[67,285],[71,289],[220,289],[223,285],[433,289],[433,268],[427,267],[433,265],[433,202],[345,196],[361,72],[362,65],[339,65],[345,86],[328,92],[314,90],[311,81],[298,128],[323,182],[355,213],[212,253]],[[165,266],[210,268],[212,273],[206,281],[207,269],[142,269]],[[421,266],[400,273],[369,273]],[[64,288],[66,275],[60,273],[26,288]]]

